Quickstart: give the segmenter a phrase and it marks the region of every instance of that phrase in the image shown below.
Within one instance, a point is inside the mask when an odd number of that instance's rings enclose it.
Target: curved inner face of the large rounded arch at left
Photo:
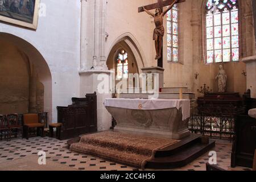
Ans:
[[[8,34],[6,32],[0,32],[0,42],[10,43],[18,49],[21,55],[27,58],[28,64],[30,64],[30,71],[28,74],[32,75],[32,72],[36,73],[36,79],[38,84],[35,88],[39,88],[39,92],[43,90],[43,111],[48,112],[48,121],[52,119],[52,75],[48,67],[48,64],[42,54],[32,44],[26,40],[19,38],[18,36]]]

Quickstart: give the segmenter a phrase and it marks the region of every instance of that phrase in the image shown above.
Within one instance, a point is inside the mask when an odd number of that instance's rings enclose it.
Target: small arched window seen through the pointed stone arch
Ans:
[[[118,53],[117,58],[117,78],[128,78],[128,54],[124,50]]]

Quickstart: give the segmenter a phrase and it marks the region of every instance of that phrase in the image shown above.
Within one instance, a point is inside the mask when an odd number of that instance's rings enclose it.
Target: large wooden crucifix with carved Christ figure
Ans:
[[[157,3],[139,7],[138,12],[141,13],[145,11],[147,14],[154,17],[155,30],[153,39],[155,40],[155,50],[156,56],[155,60],[158,60],[158,67],[163,68],[163,36],[164,36],[164,26],[163,26],[163,17],[164,15],[172,9],[172,6],[175,3],[181,3],[185,0],[158,0]],[[163,11],[163,7],[168,6],[167,10]],[[149,10],[155,10],[155,14],[151,13]]]

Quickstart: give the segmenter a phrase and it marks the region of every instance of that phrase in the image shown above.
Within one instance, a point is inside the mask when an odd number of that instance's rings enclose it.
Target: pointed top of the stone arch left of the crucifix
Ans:
[[[107,62],[109,59],[111,59],[110,57],[113,57],[113,55],[117,53],[118,47],[126,48],[133,54],[138,67],[138,73],[141,73],[141,68],[146,67],[146,58],[143,54],[141,46],[139,46],[139,43],[135,37],[130,33],[125,33],[115,39],[109,49]]]

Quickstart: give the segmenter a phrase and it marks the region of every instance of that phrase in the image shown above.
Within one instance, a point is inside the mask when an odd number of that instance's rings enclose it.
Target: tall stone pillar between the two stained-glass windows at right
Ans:
[[[193,72],[191,76],[191,82],[193,82],[192,92],[197,93],[199,88],[199,79],[195,79],[194,75],[196,72],[200,73],[200,64],[202,61],[201,55],[201,1],[192,1],[192,51],[193,51]]]

